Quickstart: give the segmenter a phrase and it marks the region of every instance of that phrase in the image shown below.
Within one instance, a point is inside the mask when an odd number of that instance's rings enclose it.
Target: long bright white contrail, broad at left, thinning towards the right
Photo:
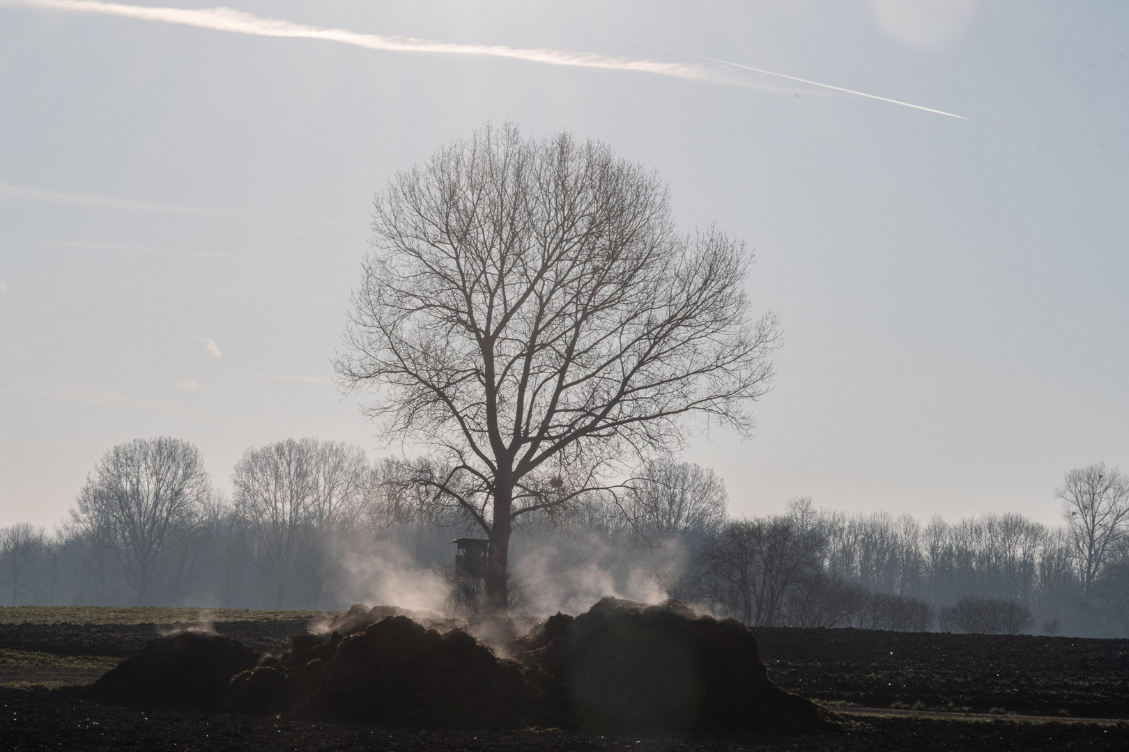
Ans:
[[[68,10],[73,12],[100,14],[105,16],[122,16],[125,18],[137,18],[140,20],[182,24],[185,26],[195,26],[199,28],[213,29],[218,32],[231,32],[234,34],[251,34],[255,36],[325,39],[327,42],[351,44],[358,47],[367,47],[369,50],[382,50],[386,52],[422,52],[422,53],[437,53],[437,54],[487,55],[493,57],[510,57],[514,60],[524,60],[527,62],[544,63],[549,65],[569,65],[574,68],[598,68],[603,70],[636,71],[640,73],[667,76],[672,78],[679,78],[690,81],[700,81],[707,83],[716,83],[721,86],[735,86],[742,88],[762,88],[758,87],[756,85],[750,83],[749,81],[741,81],[737,79],[733,79],[719,70],[704,68],[702,65],[692,65],[685,63],[666,63],[657,60],[632,60],[629,57],[613,57],[610,55],[602,55],[595,52],[564,52],[561,50],[522,48],[522,47],[508,47],[505,45],[455,44],[450,42],[435,42],[432,39],[419,39],[415,37],[383,36],[378,34],[360,34],[358,32],[350,32],[347,29],[321,28],[317,26],[294,24],[291,21],[282,20],[279,18],[264,18],[262,16],[255,16],[253,14],[244,12],[242,10],[235,10],[231,8],[222,8],[222,7],[193,10],[185,8],[151,8],[143,6],[129,6],[117,2],[100,2],[97,0],[0,0],[0,6],[23,6],[23,7],[42,8],[50,10]],[[953,113],[946,113],[940,109],[934,109],[931,107],[922,107],[921,105],[912,105],[908,101],[890,99],[889,97],[879,97],[874,94],[866,94],[864,91],[846,89],[839,86],[831,86],[830,83],[820,83],[819,81],[811,81],[808,79],[803,79],[796,76],[788,76],[786,73],[774,73],[772,71],[753,68],[752,65],[743,65],[741,63],[734,63],[725,60],[716,60],[714,57],[706,57],[703,55],[691,55],[690,53],[680,52],[677,50],[669,50],[668,47],[660,47],[659,45],[650,45],[650,46],[659,50],[667,50],[669,52],[686,55],[690,57],[698,57],[699,60],[707,60],[709,62],[718,63],[720,65],[727,65],[729,68],[739,68],[753,71],[755,73],[762,73],[764,76],[773,76],[777,78],[787,79],[789,81],[798,81],[800,83],[806,83],[808,86],[830,89],[832,91],[854,94],[856,96],[867,97],[869,99],[877,99],[879,101],[887,101],[894,105],[902,105],[903,107],[912,107],[913,109],[921,109],[924,112],[933,113],[935,115],[946,115],[948,117],[968,120],[966,117],[963,117],[961,115],[954,115]]]

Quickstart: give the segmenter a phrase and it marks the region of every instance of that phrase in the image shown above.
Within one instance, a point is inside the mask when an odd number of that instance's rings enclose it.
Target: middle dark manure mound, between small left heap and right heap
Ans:
[[[281,658],[236,676],[229,706],[415,727],[541,720],[543,672],[496,657],[462,629],[440,634],[405,616],[344,621],[352,634],[299,635]]]

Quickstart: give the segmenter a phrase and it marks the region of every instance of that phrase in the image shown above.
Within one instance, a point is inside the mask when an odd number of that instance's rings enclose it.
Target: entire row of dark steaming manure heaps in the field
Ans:
[[[390,727],[560,726],[679,733],[829,728],[769,679],[739,622],[676,601],[606,598],[534,623],[353,607],[260,656],[207,632],[151,640],[91,687],[119,704],[213,707]],[[472,635],[488,638],[491,649]],[[507,655],[509,657],[498,657]]]

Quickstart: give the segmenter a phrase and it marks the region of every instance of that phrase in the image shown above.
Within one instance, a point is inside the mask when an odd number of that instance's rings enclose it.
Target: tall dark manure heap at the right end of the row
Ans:
[[[673,600],[605,598],[579,617],[558,613],[518,640],[515,655],[553,678],[550,702],[583,727],[718,733],[833,725],[830,714],[768,679],[744,625],[695,616]]]

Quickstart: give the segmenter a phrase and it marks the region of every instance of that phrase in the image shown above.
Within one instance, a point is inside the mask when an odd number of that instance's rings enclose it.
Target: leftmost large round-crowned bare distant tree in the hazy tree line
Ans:
[[[135,439],[106,452],[71,514],[90,540],[113,552],[146,604],[166,554],[194,533],[210,494],[194,445],[170,436]]]

